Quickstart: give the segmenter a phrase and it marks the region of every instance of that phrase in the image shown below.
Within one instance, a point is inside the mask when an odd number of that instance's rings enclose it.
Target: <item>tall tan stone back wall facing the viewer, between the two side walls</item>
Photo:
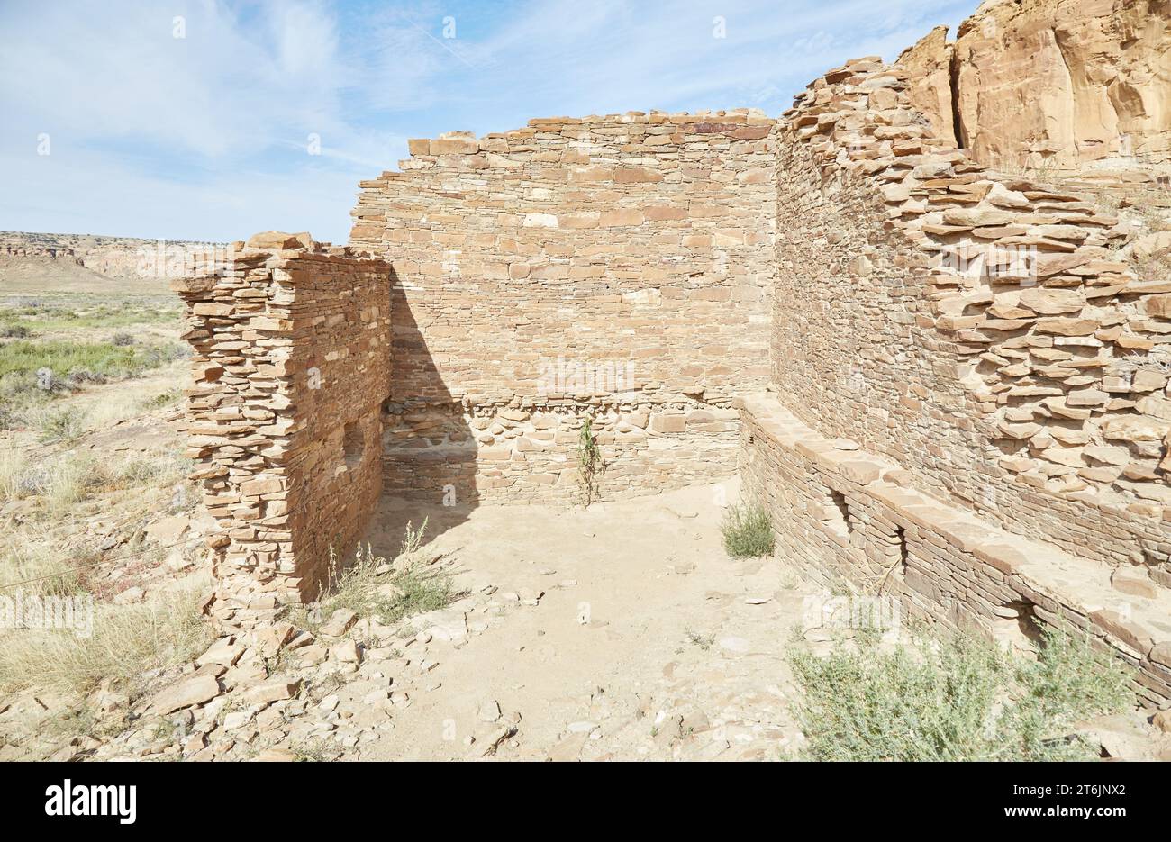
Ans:
[[[772,131],[534,119],[412,141],[363,183],[351,244],[396,274],[388,487],[571,499],[587,418],[603,497],[731,473],[731,398],[768,372]]]

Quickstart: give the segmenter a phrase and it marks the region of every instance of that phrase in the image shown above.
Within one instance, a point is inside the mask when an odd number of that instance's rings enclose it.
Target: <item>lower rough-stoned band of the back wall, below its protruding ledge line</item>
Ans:
[[[393,404],[385,418],[386,493],[446,502],[581,502],[586,420],[601,451],[596,491],[611,500],[712,482],[735,472],[731,399]]]

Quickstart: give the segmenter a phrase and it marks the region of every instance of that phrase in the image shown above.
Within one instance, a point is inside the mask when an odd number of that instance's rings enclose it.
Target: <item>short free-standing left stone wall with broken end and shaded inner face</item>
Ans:
[[[315,596],[377,502],[390,267],[271,233],[172,286],[194,348],[189,456],[219,523],[211,612],[248,625]]]

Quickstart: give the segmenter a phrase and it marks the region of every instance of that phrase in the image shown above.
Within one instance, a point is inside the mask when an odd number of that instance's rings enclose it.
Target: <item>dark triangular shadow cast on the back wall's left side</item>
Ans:
[[[390,273],[391,385],[383,406],[382,499],[365,540],[398,554],[408,523],[427,521],[430,542],[479,505],[475,431],[452,396],[415,320],[398,274]],[[491,362],[491,361],[489,361]]]

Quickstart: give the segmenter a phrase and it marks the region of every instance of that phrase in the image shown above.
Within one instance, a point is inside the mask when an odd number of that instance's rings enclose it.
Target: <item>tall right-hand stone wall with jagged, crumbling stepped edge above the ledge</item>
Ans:
[[[1011,532],[1171,583],[1171,286],[1111,259],[1090,203],[934,138],[904,76],[830,71],[779,134],[786,404]]]

